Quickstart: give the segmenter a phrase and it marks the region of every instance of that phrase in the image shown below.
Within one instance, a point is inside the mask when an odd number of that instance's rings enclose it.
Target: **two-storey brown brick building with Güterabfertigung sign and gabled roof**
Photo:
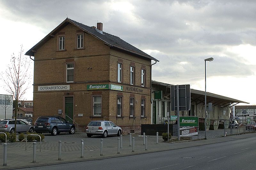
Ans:
[[[85,131],[92,120],[110,120],[123,133],[150,124],[158,60],[102,28],[67,18],[26,52],[34,60],[33,122],[60,115]]]

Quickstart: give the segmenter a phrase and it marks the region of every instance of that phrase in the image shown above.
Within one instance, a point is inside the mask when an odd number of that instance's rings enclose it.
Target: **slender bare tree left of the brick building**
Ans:
[[[17,123],[17,110],[18,101],[25,94],[28,89],[28,85],[31,79],[31,74],[28,73],[29,61],[28,58],[23,55],[23,46],[21,45],[20,52],[18,56],[12,54],[11,65],[5,71],[3,75],[3,80],[6,84],[5,90],[13,95],[15,100],[15,133],[16,133],[16,123]]]

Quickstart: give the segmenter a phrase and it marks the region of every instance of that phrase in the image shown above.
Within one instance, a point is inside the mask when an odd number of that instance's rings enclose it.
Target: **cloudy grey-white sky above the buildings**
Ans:
[[[213,57],[207,91],[256,104],[254,0],[0,0],[0,71],[20,45],[27,52],[67,16],[88,26],[102,22],[104,32],[157,58],[155,81],[204,91],[204,59]],[[32,84],[23,99],[33,99]]]

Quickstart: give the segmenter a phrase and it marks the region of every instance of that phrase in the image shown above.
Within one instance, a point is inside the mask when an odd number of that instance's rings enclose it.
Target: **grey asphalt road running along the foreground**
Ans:
[[[256,137],[249,137],[186,149],[30,169],[255,169],[255,140]]]

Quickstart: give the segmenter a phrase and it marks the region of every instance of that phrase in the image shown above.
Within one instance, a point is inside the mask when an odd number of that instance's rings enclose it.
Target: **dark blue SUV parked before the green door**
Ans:
[[[60,132],[74,134],[75,124],[69,123],[66,119],[59,116],[41,116],[35,122],[34,130],[36,133],[51,133],[53,136]]]

